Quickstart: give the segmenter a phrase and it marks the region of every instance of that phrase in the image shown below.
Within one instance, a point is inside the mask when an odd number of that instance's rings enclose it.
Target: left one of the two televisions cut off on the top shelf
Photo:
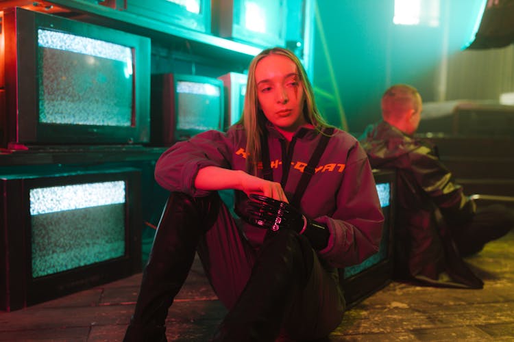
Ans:
[[[127,12],[210,34],[210,0],[125,0]]]

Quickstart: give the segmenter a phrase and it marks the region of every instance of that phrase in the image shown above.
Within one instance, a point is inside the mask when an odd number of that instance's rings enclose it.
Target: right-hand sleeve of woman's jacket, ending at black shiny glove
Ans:
[[[334,215],[316,219],[331,233],[319,255],[334,267],[356,265],[378,252],[384,222],[374,176],[358,144],[348,153],[337,203]]]

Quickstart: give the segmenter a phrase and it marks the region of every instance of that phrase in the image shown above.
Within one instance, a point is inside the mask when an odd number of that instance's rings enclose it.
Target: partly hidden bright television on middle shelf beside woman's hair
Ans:
[[[218,77],[225,86],[225,129],[241,119],[245,106],[248,76],[240,73],[226,73]]]

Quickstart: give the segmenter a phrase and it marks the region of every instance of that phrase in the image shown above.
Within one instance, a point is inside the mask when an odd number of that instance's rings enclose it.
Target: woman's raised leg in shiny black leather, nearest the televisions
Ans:
[[[219,205],[219,197],[192,198],[178,192],[169,196],[123,341],[166,341],[169,306],[188,276],[201,235],[216,220]]]

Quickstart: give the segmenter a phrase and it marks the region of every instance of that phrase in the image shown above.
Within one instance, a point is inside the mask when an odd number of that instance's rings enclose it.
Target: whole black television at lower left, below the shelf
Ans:
[[[0,189],[1,310],[140,272],[139,169],[7,174]]]

